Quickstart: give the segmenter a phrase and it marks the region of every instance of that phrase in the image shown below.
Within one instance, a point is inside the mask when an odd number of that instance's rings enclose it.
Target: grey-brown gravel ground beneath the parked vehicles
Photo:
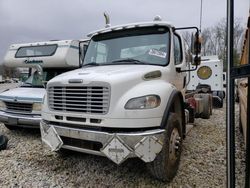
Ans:
[[[41,144],[38,131],[0,125],[10,139],[7,150],[0,151],[0,187],[226,187],[225,130],[225,108],[214,110],[209,120],[197,119],[183,143],[177,176],[163,183],[138,159],[117,166],[99,156],[60,155]],[[237,187],[242,187],[244,145],[236,134]]]

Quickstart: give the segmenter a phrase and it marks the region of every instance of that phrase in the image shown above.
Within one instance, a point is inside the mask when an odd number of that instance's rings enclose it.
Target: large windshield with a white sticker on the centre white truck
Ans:
[[[94,36],[83,66],[110,64],[167,65],[169,29],[133,28]]]

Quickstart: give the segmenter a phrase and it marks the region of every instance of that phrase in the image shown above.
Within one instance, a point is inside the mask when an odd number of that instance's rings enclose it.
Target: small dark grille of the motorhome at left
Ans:
[[[31,113],[32,111],[31,103],[5,102],[5,104],[7,110],[11,112]]]

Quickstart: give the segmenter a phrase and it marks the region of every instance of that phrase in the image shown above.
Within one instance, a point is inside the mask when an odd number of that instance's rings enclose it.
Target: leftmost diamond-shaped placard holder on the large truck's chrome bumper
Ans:
[[[42,141],[46,143],[52,151],[58,151],[62,145],[63,141],[56,132],[53,126],[50,126],[47,130],[44,129],[43,125],[40,125]]]

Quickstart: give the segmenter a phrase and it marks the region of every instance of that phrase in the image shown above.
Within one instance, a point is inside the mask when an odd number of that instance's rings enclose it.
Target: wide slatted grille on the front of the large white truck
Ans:
[[[106,114],[109,107],[109,87],[50,87],[48,101],[49,107],[57,111]]]

